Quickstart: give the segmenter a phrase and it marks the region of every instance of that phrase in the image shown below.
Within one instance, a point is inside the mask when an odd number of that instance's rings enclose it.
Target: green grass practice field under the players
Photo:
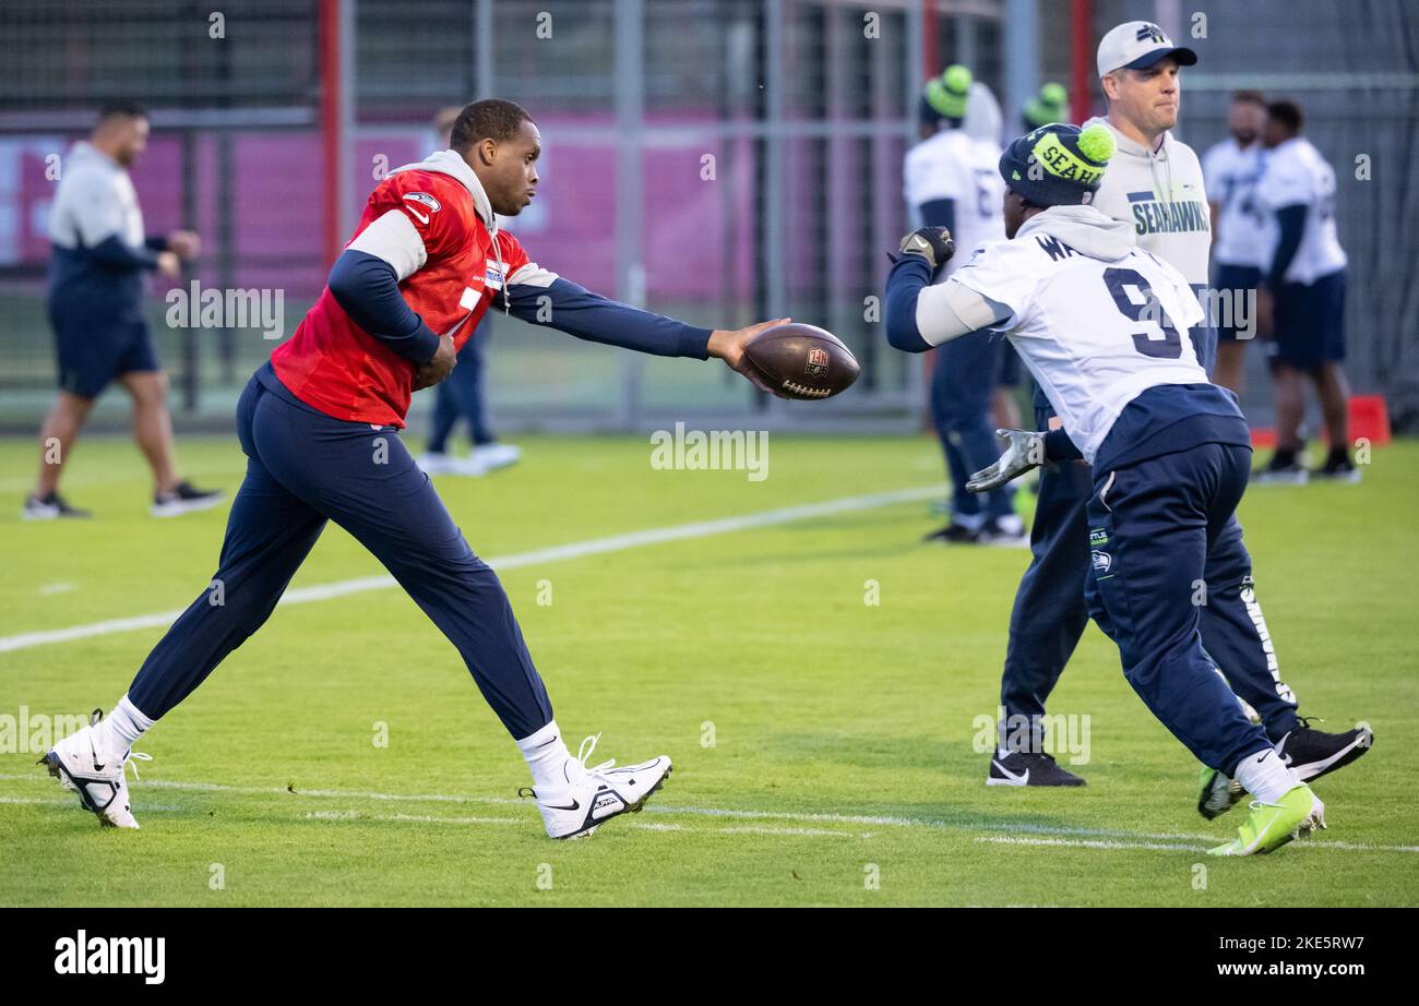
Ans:
[[[924,438],[772,437],[761,482],[656,471],[646,438],[521,443],[514,470],[440,481],[494,562],[941,481]],[[169,612],[206,587],[224,509],[150,519],[136,448],[89,440],[67,491],[98,519],[23,524],[33,454],[0,444],[0,637]],[[234,440],[180,457],[194,481],[240,482]],[[675,761],[646,813],[589,840],[543,837],[458,654],[397,589],[368,590],[280,607],[148,734],[140,831],[101,830],[11,726],[0,904],[1412,905],[1416,497],[1419,443],[1401,443],[1359,487],[1256,488],[1243,505],[1301,711],[1376,735],[1315,786],[1330,830],[1271,857],[1203,857],[1240,812],[1196,814],[1195,765],[1093,627],[1051,702],[1088,717],[1073,768],[1090,785],[983,785],[976,719],[995,715],[1027,553],[918,545],[938,519],[920,498],[502,572],[573,749],[604,731],[595,761]],[[329,528],[294,586],[379,572]],[[160,634],[0,651],[0,714],[106,711]]]

